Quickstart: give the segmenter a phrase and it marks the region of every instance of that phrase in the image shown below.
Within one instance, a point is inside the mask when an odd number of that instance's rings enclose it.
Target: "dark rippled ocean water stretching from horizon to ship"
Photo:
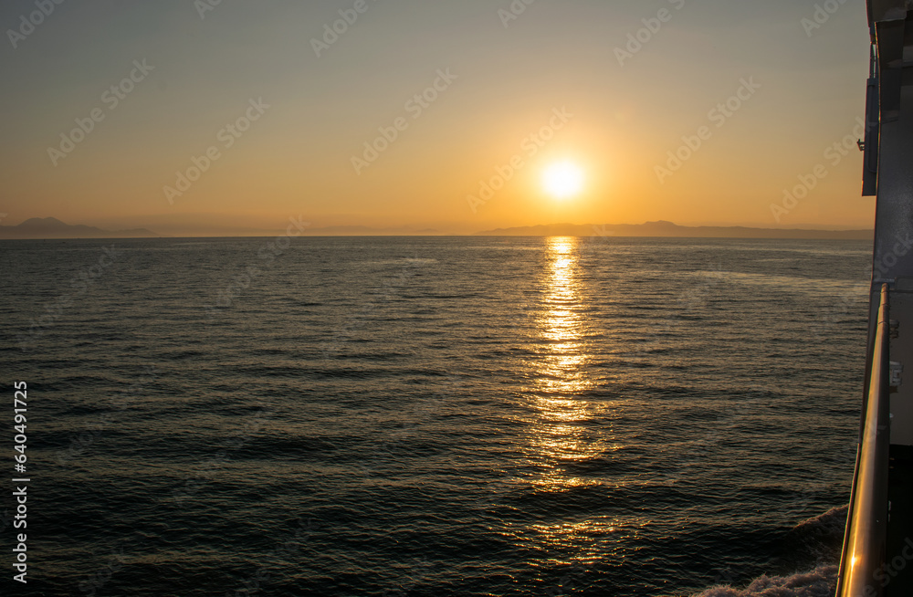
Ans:
[[[28,583],[9,579],[6,489],[2,582],[53,596],[827,595],[870,252],[2,242],[2,417],[27,382],[31,478]]]

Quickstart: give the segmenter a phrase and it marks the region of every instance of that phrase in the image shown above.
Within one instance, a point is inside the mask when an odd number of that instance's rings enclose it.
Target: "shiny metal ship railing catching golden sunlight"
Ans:
[[[853,493],[846,521],[836,597],[882,597],[876,573],[885,563],[887,474],[890,457],[890,317],[887,284],[881,287],[868,390],[863,411]]]

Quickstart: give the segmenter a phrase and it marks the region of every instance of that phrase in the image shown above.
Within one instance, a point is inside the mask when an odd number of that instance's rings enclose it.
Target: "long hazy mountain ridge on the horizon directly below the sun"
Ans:
[[[871,240],[872,230],[801,230],[746,226],[680,226],[665,220],[645,224],[551,224],[498,228],[474,236],[652,236],[686,238],[832,238]]]

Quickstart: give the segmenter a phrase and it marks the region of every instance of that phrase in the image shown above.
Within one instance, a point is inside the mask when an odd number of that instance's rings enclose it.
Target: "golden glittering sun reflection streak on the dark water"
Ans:
[[[572,514],[572,504],[584,498],[566,495],[602,491],[600,463],[619,447],[612,435],[613,414],[606,411],[605,401],[592,395],[597,385],[591,374],[593,323],[587,316],[589,291],[583,282],[579,243],[564,236],[546,241],[537,336],[531,340],[536,355],[525,388],[531,407],[525,456],[531,472],[524,482],[556,508],[569,508],[568,515],[518,525],[516,539],[548,553],[545,561],[550,565],[585,569],[606,554],[624,558],[626,541],[649,523],[593,512]]]

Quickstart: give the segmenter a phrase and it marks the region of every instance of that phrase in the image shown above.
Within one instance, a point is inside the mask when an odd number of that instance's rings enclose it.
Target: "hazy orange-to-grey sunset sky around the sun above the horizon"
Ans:
[[[5,2],[0,224],[872,224],[861,0],[529,2]]]

